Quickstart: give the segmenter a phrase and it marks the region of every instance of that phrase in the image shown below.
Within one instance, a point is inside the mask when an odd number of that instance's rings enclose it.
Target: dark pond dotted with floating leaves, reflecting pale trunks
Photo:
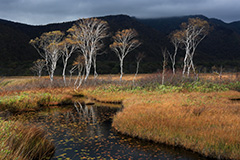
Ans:
[[[117,133],[112,117],[121,106],[84,105],[52,108],[19,115],[29,125],[43,127],[53,139],[53,159],[182,159],[204,160],[190,151]]]

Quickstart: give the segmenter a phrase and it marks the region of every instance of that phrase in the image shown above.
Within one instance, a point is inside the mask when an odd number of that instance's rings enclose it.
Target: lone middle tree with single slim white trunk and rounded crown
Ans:
[[[137,48],[141,43],[135,39],[137,32],[134,29],[125,29],[116,32],[113,36],[114,42],[110,45],[110,48],[117,54],[120,61],[120,81],[123,76],[123,60],[126,55]]]

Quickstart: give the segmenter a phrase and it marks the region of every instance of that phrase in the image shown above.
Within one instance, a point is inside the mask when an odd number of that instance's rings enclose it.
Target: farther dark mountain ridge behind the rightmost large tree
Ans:
[[[194,57],[197,64],[209,65],[236,65],[240,61],[240,23],[224,23],[218,19],[209,19],[202,15],[183,16],[158,19],[139,19],[140,22],[156,30],[163,32],[166,36],[173,30],[180,29],[182,22],[188,18],[199,17],[209,22],[212,30],[200,43]],[[214,63],[213,63],[214,61]],[[230,62],[230,63],[229,63]]]

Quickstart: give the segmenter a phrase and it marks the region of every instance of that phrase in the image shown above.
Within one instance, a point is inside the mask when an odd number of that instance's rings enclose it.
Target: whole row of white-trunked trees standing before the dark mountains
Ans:
[[[210,27],[207,21],[199,18],[190,18],[188,23],[182,23],[180,30],[173,31],[169,37],[174,46],[174,52],[170,53],[167,49],[162,49],[164,57],[163,75],[165,73],[168,56],[172,63],[173,75],[175,75],[178,48],[185,50],[182,75],[185,76],[187,72],[187,76],[189,76],[191,69],[196,73],[193,56],[199,43],[208,34],[209,29]],[[136,39],[137,35],[138,33],[134,29],[124,29],[117,31],[112,37],[113,43],[109,47],[119,58],[120,81],[124,74],[124,58],[141,45],[141,42]],[[97,18],[80,19],[67,30],[67,33],[62,31],[43,33],[40,37],[30,41],[30,44],[43,58],[35,61],[31,70],[37,72],[40,77],[45,67],[49,74],[50,81],[53,82],[57,62],[60,57],[62,57],[64,84],[67,86],[70,83],[72,74],[76,71],[77,78],[75,79],[74,87],[78,89],[83,82],[87,81],[92,65],[94,68],[94,78],[97,78],[97,55],[103,53],[103,40],[108,36],[108,23]],[[72,68],[69,70],[70,78],[69,83],[67,83],[66,68],[72,54],[78,54],[78,56],[72,64]],[[137,67],[133,82],[138,74],[139,63],[143,57],[144,53],[139,53],[138,56],[136,56]]]

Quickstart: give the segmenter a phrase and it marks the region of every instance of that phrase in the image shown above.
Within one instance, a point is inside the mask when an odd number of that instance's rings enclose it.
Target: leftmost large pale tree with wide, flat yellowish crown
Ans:
[[[30,44],[32,44],[45,59],[51,82],[53,82],[57,61],[61,55],[59,43],[62,41],[63,36],[64,33],[61,31],[52,31],[43,33],[40,38],[37,37],[30,41]]]

